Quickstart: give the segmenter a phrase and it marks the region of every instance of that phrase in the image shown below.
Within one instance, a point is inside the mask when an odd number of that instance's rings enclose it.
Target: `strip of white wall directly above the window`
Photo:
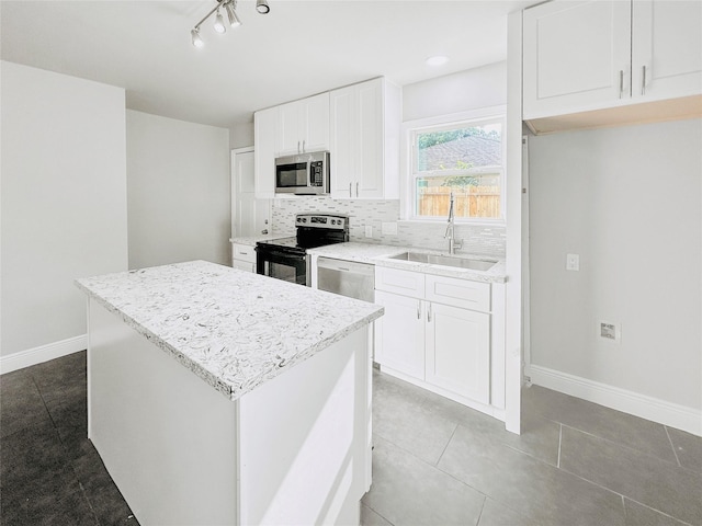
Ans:
[[[403,88],[403,121],[507,103],[507,62],[495,62]]]

